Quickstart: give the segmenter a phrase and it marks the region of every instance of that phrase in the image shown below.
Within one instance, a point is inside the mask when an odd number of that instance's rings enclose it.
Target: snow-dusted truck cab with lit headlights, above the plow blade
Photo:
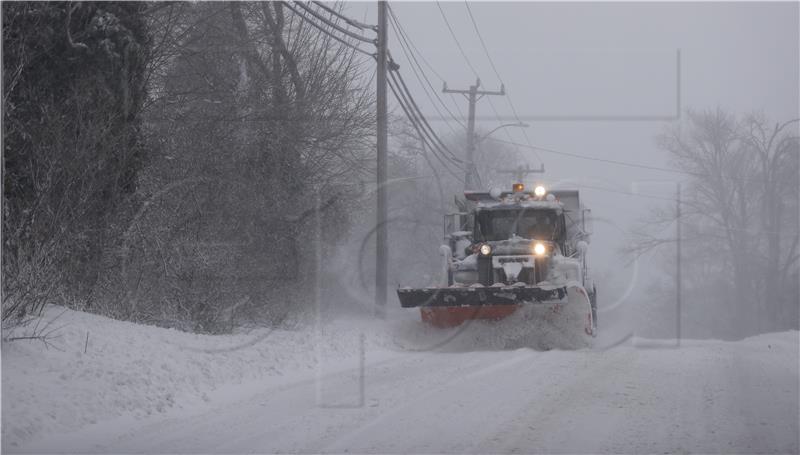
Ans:
[[[581,206],[577,191],[547,193],[540,187],[526,192],[518,185],[517,191],[467,192],[465,196],[473,203],[472,209],[453,214],[461,218],[462,229],[445,233],[452,252],[448,285],[536,285],[546,281],[553,262],[565,262],[563,258],[580,262],[580,276],[574,278],[587,284],[590,213]],[[487,257],[493,258],[492,272],[480,272],[479,265]]]

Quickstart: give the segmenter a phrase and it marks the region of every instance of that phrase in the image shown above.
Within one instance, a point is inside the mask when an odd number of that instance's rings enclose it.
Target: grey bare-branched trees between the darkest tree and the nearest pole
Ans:
[[[342,237],[357,206],[343,188],[369,172],[362,61],[280,3],[179,4],[151,24],[163,43],[145,113],[151,203],[106,288],[124,283],[129,319],[198,331],[230,327],[234,309],[280,319],[309,300],[326,247],[311,242],[316,212],[327,240]]]

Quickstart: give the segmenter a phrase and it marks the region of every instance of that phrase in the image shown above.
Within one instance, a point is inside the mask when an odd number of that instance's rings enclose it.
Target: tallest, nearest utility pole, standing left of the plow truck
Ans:
[[[386,30],[386,1],[378,1],[378,69],[377,69],[377,107],[378,107],[378,150],[377,150],[377,198],[378,206],[376,210],[377,219],[375,231],[375,314],[383,317],[386,312],[386,282],[387,267],[389,261],[389,248],[387,245],[388,232],[386,218],[388,209],[386,206],[386,177],[387,177],[387,105],[386,99],[386,60],[387,60],[387,30]]]

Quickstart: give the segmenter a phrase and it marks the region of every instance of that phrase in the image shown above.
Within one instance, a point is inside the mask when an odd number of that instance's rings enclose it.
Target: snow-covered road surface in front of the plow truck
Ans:
[[[797,332],[786,332],[680,348],[545,352],[408,352],[367,343],[363,369],[357,356],[342,359],[220,387],[205,405],[181,412],[117,417],[4,448],[796,453],[797,341]]]

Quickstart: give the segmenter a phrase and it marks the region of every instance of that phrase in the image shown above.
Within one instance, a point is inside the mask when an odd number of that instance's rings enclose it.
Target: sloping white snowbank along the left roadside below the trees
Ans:
[[[37,327],[52,331],[47,343],[2,345],[3,448],[119,417],[200,412],[252,386],[296,381],[337,364],[346,368],[361,352],[358,334],[348,333],[353,330],[307,326],[197,335],[49,307]]]

